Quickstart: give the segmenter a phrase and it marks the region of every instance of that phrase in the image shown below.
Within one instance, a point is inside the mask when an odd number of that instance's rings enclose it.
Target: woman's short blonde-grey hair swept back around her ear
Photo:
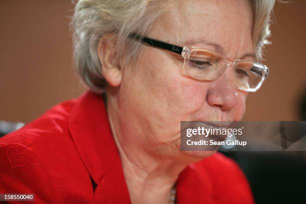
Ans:
[[[270,35],[270,14],[275,0],[251,0],[254,11],[253,44],[256,57]],[[101,73],[97,54],[99,39],[104,34],[116,33],[117,57],[125,56],[125,64],[135,59],[140,43],[129,40],[128,34],[145,35],[153,22],[165,12],[169,0],[78,0],[74,8],[71,27],[75,67],[89,88],[102,93],[107,85]],[[124,50],[124,52],[122,51]]]

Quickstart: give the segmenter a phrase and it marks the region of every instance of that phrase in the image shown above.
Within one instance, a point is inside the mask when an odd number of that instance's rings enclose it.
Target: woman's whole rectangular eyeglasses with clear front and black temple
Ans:
[[[236,88],[254,92],[259,89],[269,73],[269,68],[264,64],[240,59],[231,61],[208,49],[194,46],[181,47],[135,33],[129,34],[129,38],[180,54],[184,58],[184,66],[180,69],[181,73],[198,80],[214,80],[228,66],[232,66]]]

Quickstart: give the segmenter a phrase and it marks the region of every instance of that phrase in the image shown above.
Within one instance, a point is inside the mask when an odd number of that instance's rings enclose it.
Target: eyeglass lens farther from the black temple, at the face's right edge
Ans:
[[[235,84],[245,89],[258,89],[265,75],[262,64],[253,62],[238,62],[235,68]]]

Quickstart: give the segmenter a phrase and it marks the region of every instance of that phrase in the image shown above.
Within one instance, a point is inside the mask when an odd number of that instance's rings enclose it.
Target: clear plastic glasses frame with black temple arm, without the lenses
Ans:
[[[232,66],[233,71],[235,71],[236,65],[238,63],[241,62],[247,62],[247,63],[253,63],[257,68],[259,68],[262,71],[262,75],[261,75],[261,79],[259,81],[259,83],[257,84],[256,87],[254,88],[245,88],[245,87],[241,87],[239,85],[237,85],[235,83],[236,88],[244,90],[244,91],[248,91],[248,92],[255,92],[256,90],[258,90],[260,88],[260,86],[262,85],[263,81],[267,78],[268,74],[269,74],[269,68],[261,63],[257,63],[257,62],[253,62],[253,61],[246,61],[246,60],[241,60],[241,59],[235,59],[234,61],[228,59],[227,57],[209,50],[209,49],[205,49],[205,48],[200,48],[200,47],[196,47],[196,46],[177,46],[174,44],[170,44],[164,41],[160,41],[160,40],[156,40],[156,39],[152,39],[146,36],[140,36],[138,34],[135,33],[131,33],[128,35],[129,38],[134,39],[134,40],[138,40],[146,45],[149,46],[153,46],[153,47],[158,47],[158,48],[162,48],[162,49],[166,49],[169,50],[171,52],[177,53],[179,55],[181,55],[184,58],[184,69],[180,69],[181,73],[183,73],[184,75],[190,76],[192,78],[198,79],[198,80],[215,80],[221,73],[224,72],[224,70],[228,67],[228,66]],[[225,65],[223,67],[221,67],[216,75],[216,77],[214,79],[207,79],[205,77],[201,77],[201,76],[197,76],[194,74],[189,73],[187,70],[187,60],[190,57],[190,54],[192,51],[195,50],[203,50],[203,51],[208,51],[208,52],[212,52],[213,54],[215,54],[216,56],[219,56],[221,58],[223,58],[225,60]],[[230,62],[230,63],[228,63]]]

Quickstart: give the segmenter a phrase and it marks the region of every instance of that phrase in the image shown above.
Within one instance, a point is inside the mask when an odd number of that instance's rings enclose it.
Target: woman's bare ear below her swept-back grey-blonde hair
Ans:
[[[116,36],[114,34],[106,34],[101,37],[97,45],[102,74],[111,86],[120,85],[122,79],[122,70],[116,60],[115,44]]]

